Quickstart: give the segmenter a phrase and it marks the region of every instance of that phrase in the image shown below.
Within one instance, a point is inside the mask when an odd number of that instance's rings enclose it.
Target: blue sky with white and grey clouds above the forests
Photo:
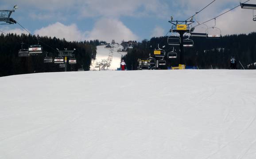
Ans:
[[[67,41],[99,39],[110,42],[164,36],[170,17],[185,20],[213,0],[0,0],[0,9],[19,8],[12,14],[33,34],[65,38]],[[198,14],[205,22],[237,6],[240,0],[216,0]],[[250,0],[249,4],[256,4]],[[256,11],[255,11],[256,14]],[[195,23],[196,24],[196,23]],[[256,31],[252,10],[237,9],[216,19],[222,35]],[[213,26],[214,21],[207,25]],[[200,29],[200,28],[198,28]],[[5,33],[25,33],[18,24],[1,25]],[[210,30],[209,30],[210,31]]]

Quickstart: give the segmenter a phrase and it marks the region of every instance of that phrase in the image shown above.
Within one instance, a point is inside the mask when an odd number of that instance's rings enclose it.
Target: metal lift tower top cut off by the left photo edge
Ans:
[[[17,5],[13,7],[13,10],[0,10],[0,24],[1,25],[9,25],[9,24],[16,24],[17,22],[13,19],[10,18],[12,15],[12,12],[15,12],[17,9]]]

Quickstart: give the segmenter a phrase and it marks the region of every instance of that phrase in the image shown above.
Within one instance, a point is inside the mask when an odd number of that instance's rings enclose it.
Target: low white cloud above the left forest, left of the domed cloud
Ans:
[[[65,26],[60,22],[50,24],[47,27],[43,27],[39,30],[35,30],[35,35],[65,38],[66,41],[84,41],[85,33],[78,30],[76,24],[71,24],[70,26]]]

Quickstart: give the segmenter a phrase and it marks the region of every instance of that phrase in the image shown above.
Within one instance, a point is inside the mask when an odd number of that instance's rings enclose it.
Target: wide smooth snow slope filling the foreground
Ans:
[[[0,78],[0,159],[256,159],[255,70]]]

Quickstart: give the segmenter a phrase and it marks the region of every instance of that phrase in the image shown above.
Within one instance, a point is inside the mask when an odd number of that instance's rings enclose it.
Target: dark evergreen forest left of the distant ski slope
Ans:
[[[23,48],[28,48],[29,45],[40,44],[43,47],[42,55],[32,55],[28,57],[19,57],[18,52]],[[96,58],[97,45],[104,43],[104,41],[73,41],[69,42],[65,39],[56,37],[39,37],[27,34],[13,34],[9,33],[0,35],[0,77],[13,74],[29,74],[39,72],[58,72],[63,71],[54,63],[43,63],[43,59],[47,56],[58,57],[58,50],[73,50],[74,58],[77,59],[77,64],[68,65],[67,70],[78,70],[82,68],[89,70],[92,59]]]

